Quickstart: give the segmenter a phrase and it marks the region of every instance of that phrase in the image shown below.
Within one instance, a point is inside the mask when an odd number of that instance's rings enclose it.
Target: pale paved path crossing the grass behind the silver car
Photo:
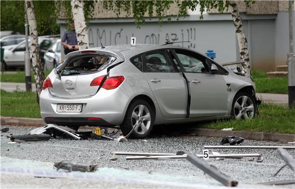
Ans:
[[[0,83],[1,89],[12,92],[15,90],[25,91],[25,83]],[[36,91],[35,84],[32,84],[32,91]],[[278,105],[288,105],[288,95],[286,94],[270,94],[270,93],[257,93],[263,102],[275,103]]]

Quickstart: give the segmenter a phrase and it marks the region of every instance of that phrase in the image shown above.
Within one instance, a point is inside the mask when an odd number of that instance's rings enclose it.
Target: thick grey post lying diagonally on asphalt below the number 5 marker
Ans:
[[[210,175],[212,178],[216,179],[220,183],[222,183],[225,186],[237,186],[238,181],[233,180],[227,175],[220,172],[218,169],[213,168],[209,164],[207,164],[202,159],[198,158],[196,155],[189,153],[186,158],[190,163],[197,166],[199,169],[204,171],[206,174]]]

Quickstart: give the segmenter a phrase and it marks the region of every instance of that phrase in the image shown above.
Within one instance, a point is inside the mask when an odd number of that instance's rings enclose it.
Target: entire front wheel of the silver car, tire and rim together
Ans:
[[[231,106],[232,119],[252,119],[255,117],[256,112],[257,106],[252,95],[239,92],[234,96]]]

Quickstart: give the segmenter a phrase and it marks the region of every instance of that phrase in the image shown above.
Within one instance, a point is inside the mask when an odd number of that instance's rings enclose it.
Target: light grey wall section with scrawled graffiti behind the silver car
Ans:
[[[64,33],[65,25],[61,25]],[[130,44],[131,36],[136,37],[138,44],[164,44],[170,42],[190,41],[175,45],[195,49],[205,53],[213,49],[217,53],[216,60],[230,62],[237,60],[235,46],[235,31],[232,21],[178,21],[164,23],[162,27],[157,22],[148,22],[141,28],[134,23],[91,23],[88,29],[90,46],[98,47],[97,31],[104,46]]]

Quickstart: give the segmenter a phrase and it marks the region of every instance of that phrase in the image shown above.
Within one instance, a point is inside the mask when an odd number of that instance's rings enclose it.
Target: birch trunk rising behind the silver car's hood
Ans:
[[[245,76],[252,79],[249,51],[247,47],[247,39],[242,25],[242,18],[240,16],[237,3],[235,1],[230,1],[230,6],[232,8],[231,16],[233,25],[235,27],[235,34],[237,34],[238,38],[241,60],[244,61],[242,65],[245,71]]]

